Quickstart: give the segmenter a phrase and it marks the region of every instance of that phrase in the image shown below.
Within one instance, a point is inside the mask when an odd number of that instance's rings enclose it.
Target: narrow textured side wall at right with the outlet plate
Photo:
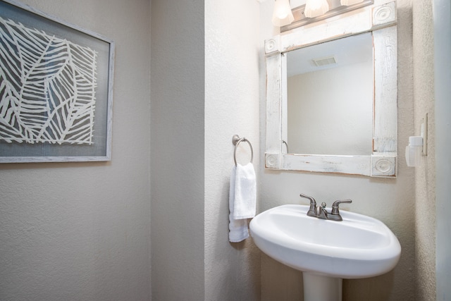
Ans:
[[[435,300],[435,110],[432,1],[413,1],[414,131],[428,113],[428,155],[415,169],[415,271],[418,300]]]

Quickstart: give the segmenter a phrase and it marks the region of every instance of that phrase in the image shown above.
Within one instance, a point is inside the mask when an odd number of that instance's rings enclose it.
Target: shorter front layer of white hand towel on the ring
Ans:
[[[254,166],[237,164],[235,177],[235,205],[233,219],[250,219],[255,216],[257,183]]]

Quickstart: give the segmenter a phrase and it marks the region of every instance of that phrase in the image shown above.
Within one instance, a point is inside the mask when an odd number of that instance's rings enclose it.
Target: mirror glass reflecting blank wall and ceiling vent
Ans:
[[[374,104],[371,32],[288,51],[285,58],[283,140],[289,152],[371,154]],[[287,152],[285,144],[282,150]]]

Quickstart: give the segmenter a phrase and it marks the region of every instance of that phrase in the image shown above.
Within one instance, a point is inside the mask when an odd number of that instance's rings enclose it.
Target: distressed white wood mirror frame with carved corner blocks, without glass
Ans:
[[[347,173],[395,178],[397,173],[397,28],[396,3],[375,0],[371,6],[297,27],[265,41],[265,167],[291,171]],[[373,32],[373,152],[369,155],[284,154],[282,102],[286,97],[283,53],[363,32]],[[285,94],[285,95],[284,95]]]

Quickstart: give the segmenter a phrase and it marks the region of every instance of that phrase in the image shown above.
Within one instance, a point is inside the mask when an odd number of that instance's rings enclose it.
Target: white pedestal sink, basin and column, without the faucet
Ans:
[[[342,221],[307,216],[309,206],[288,204],[258,214],[250,233],[261,251],[302,271],[304,301],[342,299],[342,278],[385,274],[401,246],[384,223],[340,211]]]

